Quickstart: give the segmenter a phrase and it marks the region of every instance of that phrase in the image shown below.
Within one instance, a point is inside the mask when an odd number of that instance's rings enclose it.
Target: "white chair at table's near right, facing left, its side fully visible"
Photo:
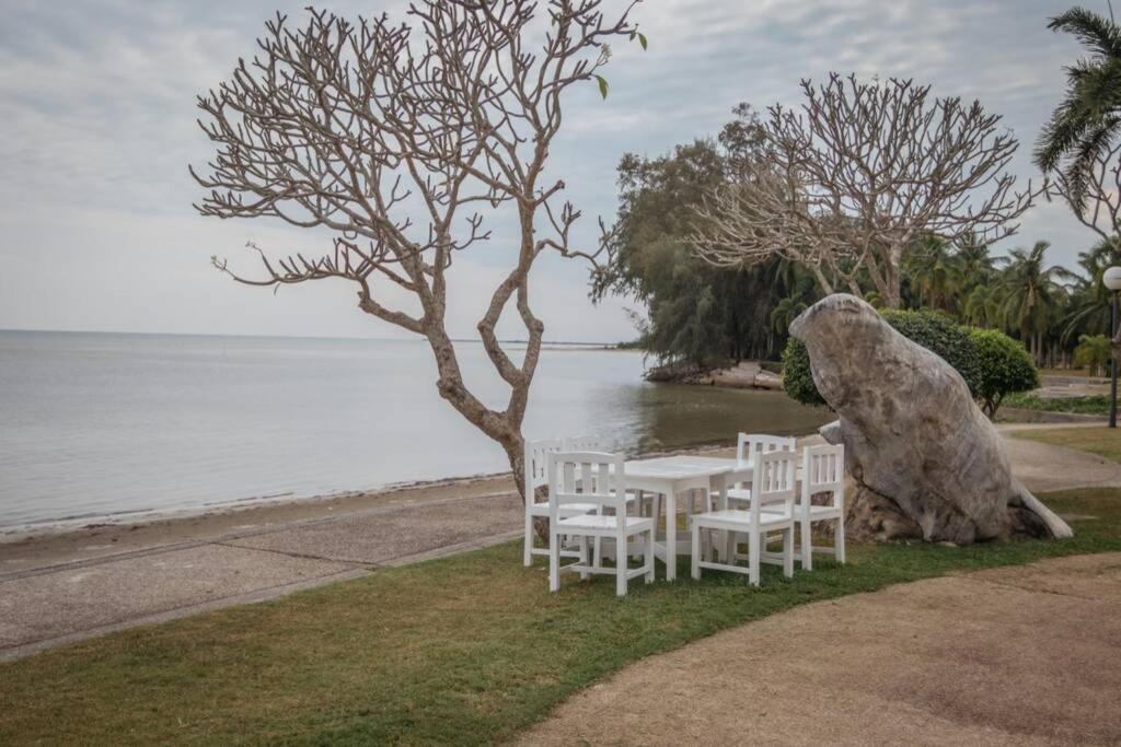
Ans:
[[[693,534],[693,578],[701,578],[701,569],[734,571],[747,573],[753,586],[759,586],[759,566],[761,562],[780,563],[782,573],[794,576],[794,496],[795,467],[797,455],[793,451],[770,451],[759,454],[752,473],[752,488],[757,499],[749,508],[724,508],[696,514],[689,522]],[[768,504],[766,510],[762,504]],[[702,557],[702,531],[730,532],[733,535],[745,535],[748,543],[748,567],[736,564],[743,558],[734,551],[734,540],[730,543],[732,551],[728,553],[726,562],[715,559],[705,560]],[[781,535],[782,552],[767,552],[768,535],[777,532]],[[714,543],[713,543],[714,544]]]

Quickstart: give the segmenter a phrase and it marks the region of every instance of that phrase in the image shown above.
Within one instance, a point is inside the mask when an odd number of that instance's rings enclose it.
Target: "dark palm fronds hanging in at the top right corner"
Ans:
[[[1044,172],[1057,171],[1065,161],[1071,204],[1082,216],[1094,161],[1121,132],[1121,28],[1084,8],[1053,18],[1048,28],[1074,35],[1090,53],[1066,68],[1066,95],[1035,150]]]

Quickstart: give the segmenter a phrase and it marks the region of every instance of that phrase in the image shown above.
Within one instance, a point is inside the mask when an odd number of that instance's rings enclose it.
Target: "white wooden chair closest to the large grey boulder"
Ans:
[[[813,505],[810,498],[830,494],[830,503]],[[766,510],[766,507],[765,507]],[[844,562],[844,446],[808,446],[802,452],[802,495],[794,507],[794,521],[800,532],[802,567],[813,569],[814,552],[832,552]],[[832,548],[814,548],[812,527],[815,522],[835,521]]]

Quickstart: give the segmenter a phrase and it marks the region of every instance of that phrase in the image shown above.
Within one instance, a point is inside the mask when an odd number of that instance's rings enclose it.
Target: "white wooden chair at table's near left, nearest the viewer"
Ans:
[[[615,577],[615,594],[627,595],[627,581],[645,576],[654,581],[654,520],[627,515],[627,485],[622,455],[595,451],[562,451],[548,455],[549,486],[549,590],[560,588],[560,573],[578,572],[582,579],[592,573]],[[595,504],[596,513],[569,515],[572,506]],[[612,513],[606,513],[610,510]],[[580,560],[560,564],[567,540],[580,540]],[[614,540],[617,548],[627,548],[631,538],[642,544],[642,566],[629,567],[626,552],[617,553],[615,564],[605,567],[592,561],[589,538]]]

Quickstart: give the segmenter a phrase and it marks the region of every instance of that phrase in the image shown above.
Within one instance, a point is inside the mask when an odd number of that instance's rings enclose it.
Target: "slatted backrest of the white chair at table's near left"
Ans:
[[[572,503],[587,503],[602,508],[614,508],[615,524],[623,526],[627,521],[627,491],[623,482],[621,454],[549,454],[549,520],[556,525],[562,507]]]

